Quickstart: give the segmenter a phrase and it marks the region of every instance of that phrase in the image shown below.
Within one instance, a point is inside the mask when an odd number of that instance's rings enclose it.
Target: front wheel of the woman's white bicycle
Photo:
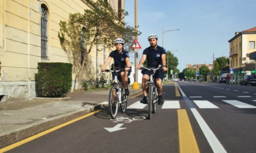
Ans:
[[[108,95],[108,110],[110,116],[115,119],[118,113],[118,89],[116,87],[111,87]]]

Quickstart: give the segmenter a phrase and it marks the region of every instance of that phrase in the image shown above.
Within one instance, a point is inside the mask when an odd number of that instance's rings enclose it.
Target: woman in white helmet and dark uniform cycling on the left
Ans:
[[[117,38],[115,40],[116,50],[113,50],[108,58],[107,61],[105,61],[104,65],[101,68],[101,71],[105,71],[105,67],[110,63],[112,58],[114,59],[114,66],[116,69],[124,69],[120,74],[117,73],[118,80],[122,80],[124,84],[124,92],[126,95],[129,95],[129,89],[128,89],[128,75],[130,75],[130,58],[129,53],[126,52],[126,50],[123,49],[124,47],[124,40],[122,38]],[[121,75],[121,76],[120,76]],[[112,80],[115,79],[115,76],[112,73]]]

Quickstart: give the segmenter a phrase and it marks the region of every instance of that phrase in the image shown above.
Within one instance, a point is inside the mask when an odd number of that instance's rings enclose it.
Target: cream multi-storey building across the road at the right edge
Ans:
[[[250,60],[250,53],[256,51],[255,42],[256,27],[236,32],[229,40],[229,66],[235,83],[240,83],[244,75],[255,74],[255,60]]]

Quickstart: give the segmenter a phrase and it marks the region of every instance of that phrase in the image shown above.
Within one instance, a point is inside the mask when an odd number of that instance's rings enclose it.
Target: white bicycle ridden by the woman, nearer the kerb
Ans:
[[[124,69],[116,70],[115,67],[113,70],[105,69],[105,72],[113,72],[115,75],[115,81],[112,83],[112,87],[110,89],[109,95],[108,95],[108,110],[110,113],[110,116],[115,119],[116,114],[118,113],[118,104],[121,108],[121,112],[126,112],[127,107],[127,95],[124,93],[124,84],[122,81],[119,81],[116,73],[119,73]]]

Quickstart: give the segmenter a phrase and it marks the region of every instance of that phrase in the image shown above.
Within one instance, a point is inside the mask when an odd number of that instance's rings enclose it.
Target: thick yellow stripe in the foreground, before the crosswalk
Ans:
[[[177,112],[179,122],[180,152],[200,152],[186,110],[179,109]]]

